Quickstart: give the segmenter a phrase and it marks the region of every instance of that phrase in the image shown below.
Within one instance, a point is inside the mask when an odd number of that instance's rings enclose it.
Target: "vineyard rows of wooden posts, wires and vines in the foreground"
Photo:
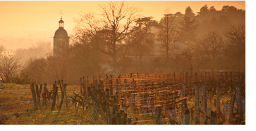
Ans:
[[[80,124],[245,124],[245,72],[81,77],[75,88],[32,84],[29,97],[32,111],[72,111]]]

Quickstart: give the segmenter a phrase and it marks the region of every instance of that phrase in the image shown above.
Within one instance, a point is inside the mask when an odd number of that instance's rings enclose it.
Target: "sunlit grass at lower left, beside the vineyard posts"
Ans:
[[[47,86],[51,89],[51,86]],[[68,95],[72,95],[79,87],[68,86]],[[59,91],[60,92],[60,91]],[[69,104],[66,111],[65,104],[61,111],[50,109],[34,110],[30,85],[1,84],[0,85],[0,123],[12,125],[46,125],[46,124],[104,124],[102,118],[93,120],[92,111],[83,111],[82,107],[75,113],[75,107]],[[57,109],[55,109],[57,110]],[[15,115],[18,114],[18,117]],[[82,116],[81,114],[85,114]]]

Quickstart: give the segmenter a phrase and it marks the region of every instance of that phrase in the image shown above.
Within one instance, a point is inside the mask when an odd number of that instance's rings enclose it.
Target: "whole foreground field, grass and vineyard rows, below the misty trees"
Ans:
[[[111,78],[106,76],[106,79],[98,79],[101,81],[97,81],[95,77],[87,78],[87,80],[84,78],[83,81],[81,78],[81,85],[68,85],[66,87],[68,110],[65,104],[59,110],[61,88],[57,93],[58,95],[56,95],[56,107],[53,111],[51,111],[51,102],[47,102],[47,105],[42,106],[42,109],[35,109],[30,85],[1,84],[0,124],[118,124],[121,119],[119,120],[117,116],[121,110],[127,115],[125,117],[127,123],[130,120],[130,124],[138,125],[159,123],[237,124],[239,117],[239,124],[245,123],[245,95],[243,93],[240,95],[240,102],[239,100],[232,100],[233,88],[230,86],[231,83],[227,82],[232,78],[223,77],[226,82],[220,82],[221,79],[213,81],[214,78],[218,79],[218,76],[215,75],[209,82],[207,78],[210,77],[206,76],[205,74],[205,77],[196,78],[191,75],[188,78],[188,74],[186,76],[181,74],[175,78],[175,74],[165,74],[165,76],[146,76],[145,74],[145,76],[125,75],[111,76]],[[234,76],[236,75],[233,75],[233,78],[239,78],[239,75]],[[207,83],[204,85],[202,80],[205,81],[205,79],[207,79]],[[112,80],[116,82],[113,83]],[[195,80],[201,82],[195,83]],[[184,86],[183,83],[187,84]],[[220,90],[216,88],[220,86],[217,83],[221,83]],[[233,83],[236,82],[233,81]],[[197,87],[194,85],[197,85]],[[245,87],[243,87],[243,83],[241,85],[242,89],[240,90],[243,92]],[[205,92],[203,90],[204,86],[207,87]],[[47,90],[53,88],[52,85],[47,85]],[[219,98],[218,92],[220,92]],[[87,98],[85,94],[88,95]],[[54,99],[54,95],[51,98]],[[89,106],[87,99],[89,99]],[[109,100],[106,101],[106,99]],[[228,108],[232,108],[229,107],[232,102],[233,110],[231,111]],[[207,106],[204,106],[205,104]],[[229,104],[228,108],[227,104]],[[238,108],[239,105],[240,108]],[[219,106],[219,111],[217,106]],[[160,114],[157,112],[157,107],[161,108]],[[185,110],[188,110],[188,116],[184,113]],[[216,123],[212,123],[211,120],[214,117],[212,116],[214,112],[217,113],[217,116],[215,116],[217,117]],[[238,114],[243,115],[239,116]],[[158,119],[159,117],[161,120]],[[230,117],[233,118],[230,119]],[[117,123],[115,123],[115,120],[117,120]],[[185,122],[185,120],[188,121]]]

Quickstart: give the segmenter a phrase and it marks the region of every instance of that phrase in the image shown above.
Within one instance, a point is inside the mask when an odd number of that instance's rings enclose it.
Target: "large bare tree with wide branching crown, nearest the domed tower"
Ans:
[[[133,6],[127,6],[124,1],[109,1],[100,7],[102,9],[101,18],[87,13],[77,21],[77,29],[80,32],[82,32],[81,30],[86,32],[90,38],[95,38],[97,41],[92,41],[94,42],[92,44],[97,46],[102,53],[112,57],[116,66],[121,41],[130,31],[138,10]]]

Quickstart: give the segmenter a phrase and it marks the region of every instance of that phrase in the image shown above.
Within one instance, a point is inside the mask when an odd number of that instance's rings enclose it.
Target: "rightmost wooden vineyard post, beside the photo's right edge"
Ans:
[[[240,86],[236,86],[236,104],[238,109],[238,125],[240,125],[243,120],[243,107],[242,107],[242,101],[241,101]]]

